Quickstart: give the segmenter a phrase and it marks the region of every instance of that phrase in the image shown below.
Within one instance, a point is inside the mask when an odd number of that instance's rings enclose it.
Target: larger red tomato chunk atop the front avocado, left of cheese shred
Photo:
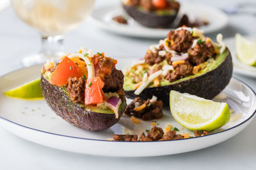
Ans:
[[[53,85],[65,85],[70,77],[81,77],[83,73],[76,63],[68,57],[61,60],[60,64],[56,67],[52,73],[50,83]]]

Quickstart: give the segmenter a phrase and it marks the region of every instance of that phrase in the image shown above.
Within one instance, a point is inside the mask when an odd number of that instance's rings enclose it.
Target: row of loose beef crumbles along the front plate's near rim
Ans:
[[[138,136],[136,134],[114,134],[113,139],[114,141],[138,141]],[[148,131],[147,136],[144,132],[142,132],[139,141],[169,141],[176,139],[184,139],[184,136],[182,136],[181,134],[176,134],[175,131],[169,131],[164,134],[161,127],[154,126],[150,131]]]

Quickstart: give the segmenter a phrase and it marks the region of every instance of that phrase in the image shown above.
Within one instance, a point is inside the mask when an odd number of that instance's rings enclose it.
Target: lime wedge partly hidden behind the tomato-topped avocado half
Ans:
[[[4,95],[19,99],[44,99],[40,87],[40,79],[31,81],[15,89],[4,92]]]

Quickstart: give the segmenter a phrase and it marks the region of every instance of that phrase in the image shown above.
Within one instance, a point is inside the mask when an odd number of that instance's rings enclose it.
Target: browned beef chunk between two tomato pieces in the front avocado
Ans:
[[[68,78],[68,95],[74,103],[84,103],[85,80],[83,77]]]

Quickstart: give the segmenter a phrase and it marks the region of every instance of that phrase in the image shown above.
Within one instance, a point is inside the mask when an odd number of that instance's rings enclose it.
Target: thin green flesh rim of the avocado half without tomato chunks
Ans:
[[[225,50],[225,52],[216,55],[216,58],[214,59],[213,62],[211,63],[206,63],[206,67],[200,71],[199,73],[196,73],[192,76],[188,76],[185,78],[180,78],[179,80],[173,81],[173,82],[169,82],[168,80],[163,80],[160,82],[160,87],[164,86],[164,85],[173,85],[175,83],[179,83],[180,81],[185,81],[185,80],[189,80],[191,78],[195,78],[197,76],[200,76],[202,74],[205,74],[209,71],[211,71],[212,69],[215,69],[216,67],[220,66],[220,64],[225,60],[225,58],[228,55],[228,50]],[[131,78],[125,76],[124,78],[124,90],[134,90],[134,85],[136,85],[136,83],[132,83]],[[147,87],[154,87],[154,83],[150,83]]]

